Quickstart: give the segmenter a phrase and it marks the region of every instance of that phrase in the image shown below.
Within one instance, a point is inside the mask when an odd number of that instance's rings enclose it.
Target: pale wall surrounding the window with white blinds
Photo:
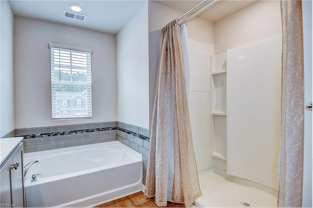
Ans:
[[[117,120],[115,35],[63,24],[15,17],[15,128]],[[51,120],[48,42],[91,48],[92,118]]]

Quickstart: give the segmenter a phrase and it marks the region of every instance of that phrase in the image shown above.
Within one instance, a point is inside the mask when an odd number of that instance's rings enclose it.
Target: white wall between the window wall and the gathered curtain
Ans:
[[[149,128],[148,2],[116,36],[117,120]]]

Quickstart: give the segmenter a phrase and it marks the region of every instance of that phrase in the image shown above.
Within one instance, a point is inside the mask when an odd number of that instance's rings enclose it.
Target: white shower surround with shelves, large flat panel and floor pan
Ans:
[[[281,44],[277,36],[211,56],[213,169],[199,173],[196,206],[277,206]]]

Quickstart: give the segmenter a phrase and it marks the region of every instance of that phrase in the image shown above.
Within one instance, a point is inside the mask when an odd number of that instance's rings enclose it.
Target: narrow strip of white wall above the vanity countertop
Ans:
[[[0,1],[0,137],[14,129],[13,21],[7,0]]]

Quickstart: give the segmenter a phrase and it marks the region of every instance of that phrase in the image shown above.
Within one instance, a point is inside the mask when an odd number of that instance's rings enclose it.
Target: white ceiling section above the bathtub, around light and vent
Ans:
[[[86,21],[63,17],[69,3],[79,3]],[[14,15],[116,34],[143,6],[144,0],[10,0]]]

